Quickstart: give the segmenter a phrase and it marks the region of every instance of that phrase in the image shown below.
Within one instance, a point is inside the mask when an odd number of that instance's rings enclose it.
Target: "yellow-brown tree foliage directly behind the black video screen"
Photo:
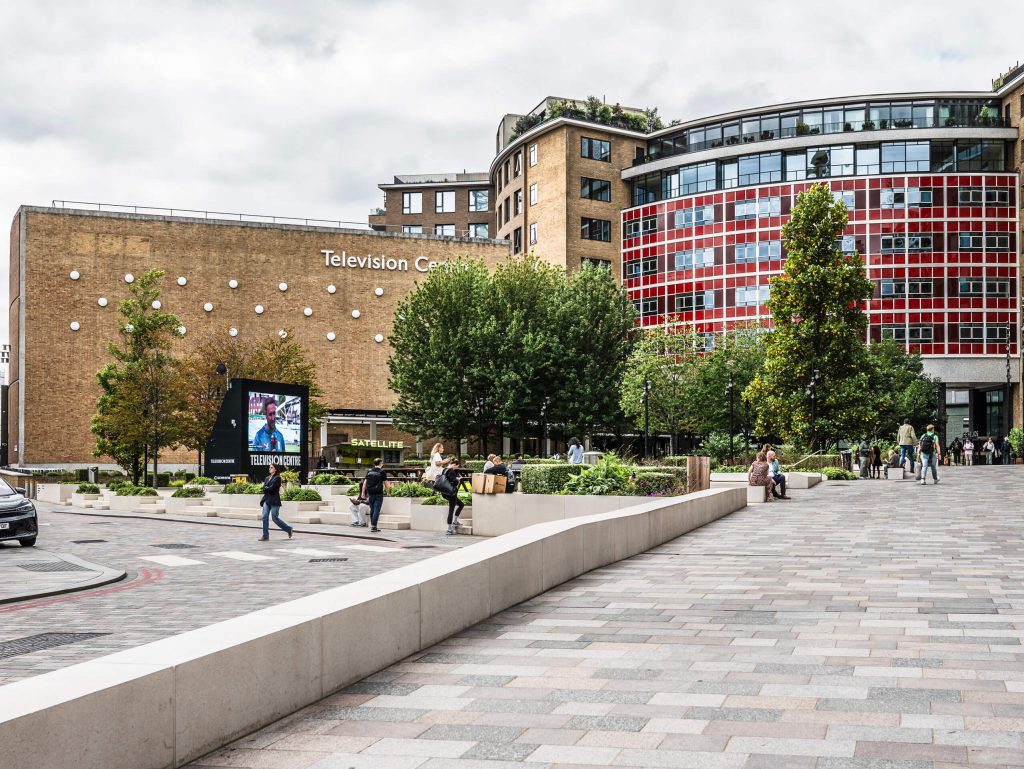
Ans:
[[[217,364],[225,366],[225,375],[217,374]],[[316,367],[305,349],[292,341],[288,329],[285,329],[284,338],[275,334],[251,340],[217,334],[194,340],[181,359],[180,370],[186,373],[178,383],[184,399],[180,417],[181,444],[199,453],[200,464],[220,412],[227,377],[305,385],[309,388],[310,429],[318,425],[327,413]]]

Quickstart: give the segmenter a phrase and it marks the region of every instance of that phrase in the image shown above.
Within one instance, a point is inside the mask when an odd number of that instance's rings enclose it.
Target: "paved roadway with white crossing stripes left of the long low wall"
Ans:
[[[231,525],[154,516],[79,515],[38,505],[45,553],[0,545],[4,567],[72,554],[128,571],[127,578],[81,593],[0,604],[0,643],[42,633],[95,633],[94,638],[0,658],[0,685],[92,659],[256,609],[361,580],[460,547],[478,538],[427,532],[300,526],[288,540],[257,523]],[[332,531],[308,533],[301,529]],[[163,547],[162,547],[163,546]],[[167,547],[174,546],[174,547]],[[177,547],[183,546],[183,547]],[[33,555],[35,554],[35,555]],[[327,560],[343,558],[343,561]],[[74,572],[73,572],[74,573]],[[36,574],[41,580],[51,575]],[[2,765],[0,761],[0,765]]]

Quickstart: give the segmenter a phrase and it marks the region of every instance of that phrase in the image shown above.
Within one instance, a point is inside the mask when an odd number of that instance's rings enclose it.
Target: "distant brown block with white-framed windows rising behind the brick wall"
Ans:
[[[494,238],[486,173],[404,174],[378,185],[384,206],[370,214],[378,231],[444,238]]]

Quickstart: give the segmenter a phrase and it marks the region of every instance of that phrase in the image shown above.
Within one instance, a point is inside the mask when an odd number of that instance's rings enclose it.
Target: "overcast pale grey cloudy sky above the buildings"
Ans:
[[[486,169],[501,117],[548,94],[668,122],[983,90],[1024,58],[1022,18],[1020,0],[0,0],[0,215],[65,199],[366,222],[395,173]]]

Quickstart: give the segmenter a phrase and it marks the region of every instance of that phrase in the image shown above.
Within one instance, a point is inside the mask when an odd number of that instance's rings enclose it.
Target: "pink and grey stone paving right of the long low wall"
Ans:
[[[946,469],[749,507],[193,766],[1024,766],[1022,481]]]

